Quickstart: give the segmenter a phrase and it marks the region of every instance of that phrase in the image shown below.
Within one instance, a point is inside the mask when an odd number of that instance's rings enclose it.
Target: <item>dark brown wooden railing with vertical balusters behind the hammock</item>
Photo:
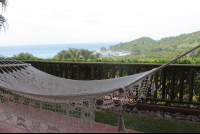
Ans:
[[[55,76],[74,80],[100,80],[123,77],[159,67],[150,63],[102,63],[24,61]],[[151,81],[157,90],[149,90],[146,100],[140,103],[171,106],[197,106],[200,108],[200,65],[171,64],[156,72]],[[150,83],[151,84],[151,83]]]

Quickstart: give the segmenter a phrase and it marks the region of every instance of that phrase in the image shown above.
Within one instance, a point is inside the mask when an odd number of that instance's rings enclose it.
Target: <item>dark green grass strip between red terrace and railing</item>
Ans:
[[[95,122],[117,126],[119,114],[95,112]],[[123,115],[126,129],[144,133],[200,133],[200,124],[176,120]]]

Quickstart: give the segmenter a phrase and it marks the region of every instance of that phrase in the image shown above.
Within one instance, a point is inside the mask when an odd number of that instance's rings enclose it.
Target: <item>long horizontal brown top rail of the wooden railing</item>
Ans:
[[[116,66],[162,66],[162,63],[116,63],[116,62],[72,62],[72,61],[36,61],[22,60],[28,63],[74,64],[74,65],[116,65]],[[170,64],[170,67],[200,67],[200,64]]]

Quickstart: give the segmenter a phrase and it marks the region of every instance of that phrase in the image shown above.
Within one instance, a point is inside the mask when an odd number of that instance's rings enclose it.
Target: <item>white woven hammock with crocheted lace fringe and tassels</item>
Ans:
[[[94,110],[146,99],[151,74],[198,47],[147,72],[91,81],[55,77],[1,56],[0,117],[30,132],[94,132]],[[120,121],[118,131],[125,129]]]

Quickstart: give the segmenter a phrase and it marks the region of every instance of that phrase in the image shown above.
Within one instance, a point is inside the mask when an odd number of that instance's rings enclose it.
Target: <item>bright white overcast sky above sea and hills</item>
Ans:
[[[0,46],[160,40],[200,30],[200,0],[8,0]],[[0,10],[1,11],[1,10]]]

